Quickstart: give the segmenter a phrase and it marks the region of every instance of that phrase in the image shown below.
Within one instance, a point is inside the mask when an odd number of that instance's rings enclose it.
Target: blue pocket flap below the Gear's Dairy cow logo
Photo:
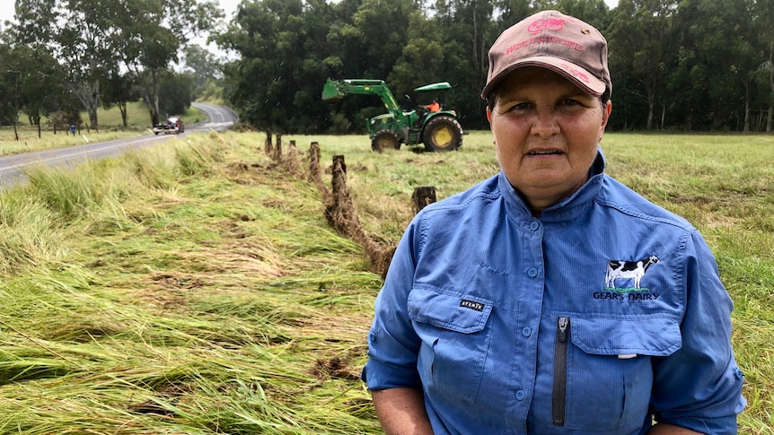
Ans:
[[[682,347],[672,318],[572,318],[570,328],[573,344],[594,355],[667,356]]]

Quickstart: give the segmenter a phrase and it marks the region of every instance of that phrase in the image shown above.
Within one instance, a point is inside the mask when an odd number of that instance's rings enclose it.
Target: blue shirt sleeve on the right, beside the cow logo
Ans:
[[[684,240],[682,348],[654,361],[651,406],[657,422],[713,435],[737,431],[746,402],[731,346],[733,303],[715,257],[698,232]]]

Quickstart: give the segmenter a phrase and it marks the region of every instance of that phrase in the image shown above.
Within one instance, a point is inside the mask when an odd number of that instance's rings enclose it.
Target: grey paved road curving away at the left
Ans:
[[[28,152],[0,157],[0,188],[13,187],[26,181],[24,170],[32,165],[44,165],[52,168],[75,166],[86,160],[99,160],[105,157],[115,157],[124,152],[139,150],[145,146],[160,144],[172,137],[184,137],[194,133],[209,130],[224,130],[237,120],[232,109],[222,106],[212,106],[202,103],[191,103],[197,109],[207,113],[209,121],[192,126],[186,126],[182,135],[145,135],[128,139],[116,139],[107,142],[85,144],[70,148]]]

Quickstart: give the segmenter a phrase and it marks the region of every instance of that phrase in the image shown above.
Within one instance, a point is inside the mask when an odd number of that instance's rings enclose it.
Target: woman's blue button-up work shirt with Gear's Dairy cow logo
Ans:
[[[699,233],[603,172],[532,216],[500,172],[410,223],[363,378],[435,434],[736,433],[732,302]]]

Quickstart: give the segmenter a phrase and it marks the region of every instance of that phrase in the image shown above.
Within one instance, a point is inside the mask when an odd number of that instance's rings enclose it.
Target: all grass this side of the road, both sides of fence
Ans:
[[[265,135],[189,135],[0,195],[0,433],[381,433],[363,384],[381,278]],[[190,142],[188,142],[190,140]],[[414,187],[497,172],[458,152],[376,154],[365,136],[283,137],[344,155],[366,230],[397,243]],[[608,134],[609,172],[683,214],[734,299],[748,408],[774,426],[774,137]],[[302,165],[303,167],[303,165]],[[330,175],[323,175],[330,186]]]

